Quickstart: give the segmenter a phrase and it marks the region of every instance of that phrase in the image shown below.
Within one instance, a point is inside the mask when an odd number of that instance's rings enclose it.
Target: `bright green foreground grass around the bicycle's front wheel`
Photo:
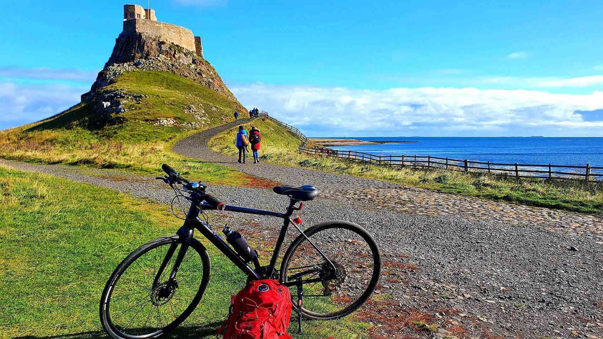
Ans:
[[[168,206],[106,188],[0,166],[0,338],[101,338],[99,296],[113,269],[140,245],[174,234]],[[275,235],[276,236],[276,235]],[[206,294],[172,337],[214,338],[244,275],[203,241],[212,258]],[[289,331],[295,333],[295,322]],[[295,338],[362,338],[350,318],[306,322]]]

